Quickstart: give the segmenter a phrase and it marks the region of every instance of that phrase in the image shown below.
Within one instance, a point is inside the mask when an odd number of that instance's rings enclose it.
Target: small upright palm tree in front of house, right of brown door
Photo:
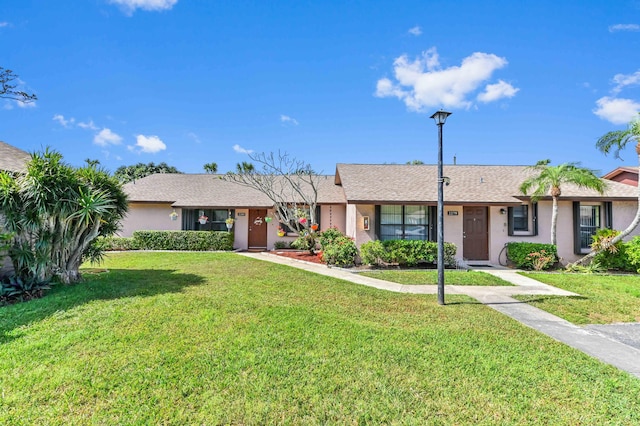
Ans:
[[[524,195],[531,192],[531,201],[537,201],[545,195],[551,195],[553,210],[551,212],[551,244],[556,245],[556,224],[558,223],[558,198],[562,194],[561,185],[572,184],[579,188],[596,190],[602,194],[606,183],[595,175],[593,170],[580,167],[578,163],[564,163],[550,166],[551,160],[540,160],[531,169],[537,174],[527,178],[520,185]]]

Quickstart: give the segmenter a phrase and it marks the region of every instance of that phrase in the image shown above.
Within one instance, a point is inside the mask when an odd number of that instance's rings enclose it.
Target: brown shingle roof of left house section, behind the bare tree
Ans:
[[[129,182],[124,190],[131,202],[169,202],[174,207],[270,208],[264,194],[213,174],[158,173]],[[318,204],[344,204],[334,176],[320,176]]]

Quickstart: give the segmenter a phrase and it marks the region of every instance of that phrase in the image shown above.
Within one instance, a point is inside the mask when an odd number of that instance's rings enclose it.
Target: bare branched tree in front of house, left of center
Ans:
[[[276,219],[298,233],[317,223],[320,176],[310,164],[287,153],[249,154],[251,162],[238,163],[235,172],[221,179],[253,188],[273,201]],[[308,217],[307,217],[308,216]]]

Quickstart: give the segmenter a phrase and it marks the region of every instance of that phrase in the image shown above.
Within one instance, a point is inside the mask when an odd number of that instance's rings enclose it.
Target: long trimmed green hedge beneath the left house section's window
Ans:
[[[133,237],[96,241],[106,251],[124,250],[233,250],[233,233],[226,231],[134,231]]]

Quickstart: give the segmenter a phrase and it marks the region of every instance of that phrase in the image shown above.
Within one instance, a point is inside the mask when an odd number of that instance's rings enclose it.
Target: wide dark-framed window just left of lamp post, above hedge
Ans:
[[[378,206],[380,240],[429,240],[427,206]]]

